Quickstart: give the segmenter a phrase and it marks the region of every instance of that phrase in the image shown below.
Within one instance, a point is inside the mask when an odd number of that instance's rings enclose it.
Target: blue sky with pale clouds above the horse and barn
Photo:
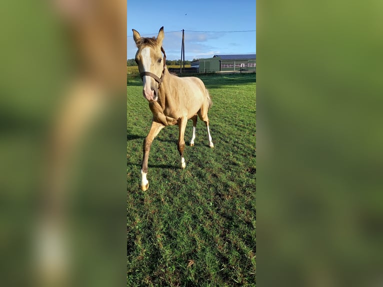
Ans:
[[[214,54],[255,54],[256,0],[127,0],[127,54],[134,58],[131,29],[141,36],[157,36],[163,26],[166,58],[181,58],[184,29],[185,60]],[[194,32],[201,31],[201,32]],[[218,32],[225,31],[225,32]]]

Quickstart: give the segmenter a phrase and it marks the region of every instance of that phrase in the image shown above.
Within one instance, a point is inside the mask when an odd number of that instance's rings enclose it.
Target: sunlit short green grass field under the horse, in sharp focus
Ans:
[[[142,141],[151,120],[139,77],[127,86],[127,286],[255,286],[255,74],[201,76],[214,148],[198,119],[194,146],[178,126],[154,139],[149,189],[139,189]]]

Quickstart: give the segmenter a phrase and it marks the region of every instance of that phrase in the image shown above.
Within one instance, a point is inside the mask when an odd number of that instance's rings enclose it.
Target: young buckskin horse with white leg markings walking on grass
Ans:
[[[163,26],[159,29],[157,37],[141,37],[135,30],[133,39],[138,48],[135,62],[143,82],[142,95],[148,101],[153,117],[150,130],[143,140],[143,157],[141,165],[142,191],[147,190],[147,161],[151,143],[159,131],[167,125],[177,124],[179,135],[177,149],[179,151],[179,164],[185,168],[183,149],[185,146],[184,132],[188,119],[193,122],[193,133],[190,146],[194,145],[197,115],[205,123],[207,129],[208,145],[214,147],[209,130],[207,111],[212,105],[208,90],[197,77],[178,77],[169,73],[166,67],[166,54],[162,47],[164,38]],[[163,53],[163,56],[162,56]]]

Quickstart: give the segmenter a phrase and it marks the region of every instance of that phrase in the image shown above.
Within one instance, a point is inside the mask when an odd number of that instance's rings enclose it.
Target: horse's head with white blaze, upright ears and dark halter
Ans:
[[[139,74],[143,81],[142,93],[148,101],[155,101],[158,98],[158,88],[162,82],[166,67],[166,56],[162,48],[163,27],[159,29],[156,38],[141,37],[136,30],[132,30],[138,48],[135,61],[138,64]]]

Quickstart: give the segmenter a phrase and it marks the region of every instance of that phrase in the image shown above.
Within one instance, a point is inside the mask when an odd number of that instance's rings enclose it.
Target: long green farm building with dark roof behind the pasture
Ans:
[[[239,71],[256,69],[256,54],[214,55],[212,58],[191,62],[199,72]]]

